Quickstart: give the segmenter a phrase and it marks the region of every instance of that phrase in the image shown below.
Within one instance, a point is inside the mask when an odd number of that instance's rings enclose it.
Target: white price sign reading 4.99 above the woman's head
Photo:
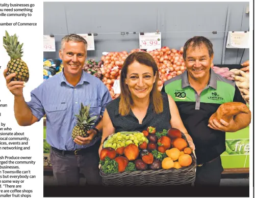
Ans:
[[[140,35],[140,49],[161,49],[161,33],[144,33],[144,35]]]

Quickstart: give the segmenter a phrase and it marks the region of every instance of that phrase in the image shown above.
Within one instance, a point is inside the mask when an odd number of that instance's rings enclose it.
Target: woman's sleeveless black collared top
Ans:
[[[115,132],[121,131],[140,131],[147,130],[147,127],[152,126],[156,127],[156,131],[163,131],[163,129],[171,128],[170,120],[170,108],[168,96],[166,93],[162,93],[163,96],[163,105],[164,110],[161,114],[156,114],[153,111],[152,103],[149,103],[147,113],[145,118],[142,121],[142,124],[139,123],[139,120],[133,114],[131,110],[127,116],[121,116],[119,114],[119,102],[120,98],[112,100],[107,105],[107,110],[109,117],[112,121],[113,126],[115,127]]]

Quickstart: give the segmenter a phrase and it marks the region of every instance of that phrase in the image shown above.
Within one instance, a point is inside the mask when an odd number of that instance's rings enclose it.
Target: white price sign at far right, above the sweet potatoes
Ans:
[[[249,32],[228,32],[226,48],[249,48]]]

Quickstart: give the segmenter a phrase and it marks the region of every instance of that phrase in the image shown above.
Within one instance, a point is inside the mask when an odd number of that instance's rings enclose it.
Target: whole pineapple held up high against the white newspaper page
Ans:
[[[23,53],[21,47],[23,43],[21,45],[19,44],[16,34],[14,34],[13,36],[9,36],[7,31],[5,31],[5,33],[6,36],[3,38],[4,47],[11,58],[7,65],[7,75],[11,73],[16,73],[16,76],[11,80],[28,82],[29,68],[27,64],[21,60],[21,56]]]

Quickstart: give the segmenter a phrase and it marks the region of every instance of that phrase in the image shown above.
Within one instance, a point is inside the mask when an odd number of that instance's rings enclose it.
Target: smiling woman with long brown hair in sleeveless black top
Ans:
[[[171,127],[181,130],[194,150],[191,136],[184,127],[173,99],[158,91],[158,67],[146,52],[134,52],[123,63],[120,76],[120,97],[111,101],[103,115],[104,139],[115,132],[146,130],[148,126],[157,131]]]

